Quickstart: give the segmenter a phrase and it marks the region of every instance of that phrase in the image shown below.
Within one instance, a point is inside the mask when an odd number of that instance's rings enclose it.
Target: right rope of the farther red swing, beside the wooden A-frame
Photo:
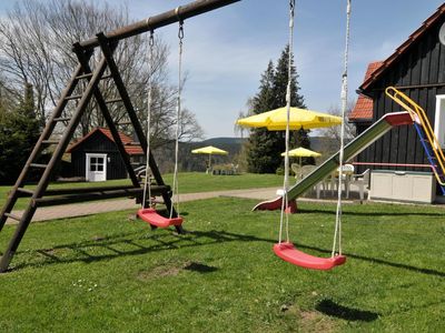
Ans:
[[[181,121],[181,93],[182,93],[182,40],[184,40],[184,21],[179,20],[179,54],[178,54],[178,98],[176,108],[176,143],[175,143],[175,173],[174,173],[174,193],[176,196],[176,210],[179,215],[179,184],[178,184],[178,160],[179,160],[179,128]],[[174,214],[174,205],[170,206],[170,219]]]

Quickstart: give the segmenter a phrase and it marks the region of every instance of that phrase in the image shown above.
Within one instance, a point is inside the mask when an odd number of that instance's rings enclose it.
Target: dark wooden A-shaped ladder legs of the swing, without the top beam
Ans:
[[[142,193],[142,188],[139,184],[139,181],[135,174],[135,171],[131,167],[130,159],[126,153],[123,143],[119,137],[119,132],[115,125],[115,122],[111,118],[111,114],[108,109],[108,104],[116,102],[123,102],[125,108],[127,109],[128,115],[134,125],[135,132],[139,138],[139,142],[144,151],[147,151],[147,141],[144,133],[144,130],[140,125],[140,122],[136,115],[131,101],[129,99],[128,92],[125,88],[122,78],[118,71],[118,67],[112,58],[112,53],[117,48],[117,42],[110,42],[103,33],[97,34],[97,39],[99,41],[99,47],[101,50],[101,59],[95,65],[92,70],[90,68],[90,59],[93,56],[93,49],[83,48],[80,43],[76,43],[73,46],[73,51],[77,54],[79,63],[68,83],[66,89],[63,90],[56,109],[52,112],[51,118],[47,122],[47,125],[41,133],[36,147],[33,148],[30,157],[28,158],[27,163],[24,164],[14,186],[9,193],[9,198],[0,212],[0,231],[3,229],[8,219],[12,219],[18,221],[17,229],[9,242],[7,250],[2,253],[0,260],[0,272],[4,272],[9,263],[14,255],[21,239],[23,238],[29,223],[32,220],[32,216],[38,206],[43,205],[53,205],[53,204],[62,204],[69,202],[79,202],[87,200],[99,200],[106,198],[119,198],[119,196],[140,196]],[[109,73],[106,73],[108,69]],[[120,99],[113,99],[106,101],[103,99],[102,93],[99,90],[99,82],[101,80],[112,79],[117,87],[117,90],[120,94]],[[81,84],[79,84],[82,82]],[[83,84],[85,83],[85,84]],[[86,88],[81,89],[82,85]],[[108,188],[108,189],[92,189],[92,191],[88,190],[79,190],[72,189],[71,191],[62,190],[47,190],[48,184],[50,182],[51,176],[53,175],[55,169],[60,162],[67,147],[78,127],[81,117],[83,115],[88,103],[91,98],[95,97],[97,104],[99,105],[100,111],[103,114],[103,118],[107,122],[108,128],[112,134],[112,138],[116,142],[116,145],[120,152],[122,161],[127,168],[129,173],[129,178],[131,180],[132,186],[119,186],[118,188]],[[72,117],[65,117],[65,110],[68,103],[76,102],[76,109],[72,113]],[[53,131],[56,125],[60,122],[68,123],[62,137],[58,140],[52,139]],[[55,150],[52,157],[50,158],[47,164],[38,163],[38,158],[42,150],[48,148],[49,145],[53,145]],[[170,188],[165,185],[164,180],[159,173],[159,170],[156,165],[156,162],[152,157],[150,157],[150,169],[154,174],[154,178],[158,184],[157,189],[154,189],[155,195],[162,195],[164,203],[169,210],[171,206],[170,199]],[[28,178],[31,174],[39,172],[39,181],[34,189],[26,188],[26,183],[28,182]],[[55,195],[59,194],[59,195]],[[63,195],[61,195],[63,194]],[[46,198],[44,198],[46,196]],[[12,210],[17,203],[19,198],[27,198],[28,203],[27,208],[21,215],[16,215],[12,213]],[[174,212],[176,214],[176,212]],[[177,228],[178,232],[181,232],[180,226]]]

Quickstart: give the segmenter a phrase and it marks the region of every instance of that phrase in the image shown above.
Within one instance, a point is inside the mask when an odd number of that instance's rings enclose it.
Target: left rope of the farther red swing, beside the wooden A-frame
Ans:
[[[150,122],[151,122],[151,104],[152,104],[152,70],[154,70],[154,49],[155,49],[155,32],[150,31],[150,38],[148,39],[149,59],[148,59],[148,100],[147,100],[147,155],[146,155],[146,179],[144,182],[144,196],[142,208],[146,208],[147,190],[148,190],[148,205],[152,206],[151,199],[151,181],[149,179],[148,170],[150,165]]]

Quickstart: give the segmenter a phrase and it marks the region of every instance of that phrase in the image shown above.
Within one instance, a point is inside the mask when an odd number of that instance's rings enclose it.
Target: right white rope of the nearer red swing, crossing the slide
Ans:
[[[346,7],[346,43],[345,43],[345,70],[342,77],[342,130],[340,130],[340,151],[339,151],[339,173],[338,173],[338,191],[337,191],[337,211],[335,215],[335,232],[332,256],[335,256],[335,250],[338,240],[338,254],[342,255],[342,182],[343,182],[343,159],[344,159],[344,138],[345,138],[345,114],[347,108],[347,69],[349,58],[349,23],[350,23],[350,1],[347,0]]]

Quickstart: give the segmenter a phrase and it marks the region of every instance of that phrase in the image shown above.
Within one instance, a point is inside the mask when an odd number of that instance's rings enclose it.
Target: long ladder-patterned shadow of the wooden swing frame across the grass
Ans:
[[[147,244],[147,242],[151,242],[151,244]],[[152,242],[156,243],[152,244]],[[214,245],[227,242],[241,242],[241,243],[266,242],[270,244],[276,243],[276,241],[271,239],[258,238],[248,234],[237,234],[226,231],[216,231],[216,230],[194,231],[194,232],[187,232],[186,234],[182,235],[166,234],[166,233],[141,235],[140,231],[136,231],[131,233],[116,234],[112,236],[93,238],[92,240],[83,242],[61,244],[53,246],[51,249],[34,250],[33,252],[41,254],[43,259],[40,256],[40,258],[33,258],[31,260],[26,260],[22,263],[13,265],[13,269],[11,270],[14,271],[22,268],[39,268],[44,265],[53,265],[53,264],[71,263],[71,262],[93,263],[97,261],[111,260],[115,258],[142,255],[150,252],[171,251],[171,250],[195,248],[195,246],[206,246],[206,245]],[[299,243],[295,243],[295,245],[299,250],[310,250],[319,253],[325,253],[326,256],[330,255],[330,250],[327,249],[320,249]],[[107,253],[103,253],[105,251],[107,251]],[[29,251],[27,251],[26,253],[29,254]],[[364,256],[359,254],[353,254],[353,253],[344,253],[344,254],[348,259],[373,262],[382,265],[407,270],[419,274],[445,278],[445,272],[442,271],[417,268],[404,263],[390,262],[378,258]],[[206,269],[195,265],[190,270],[204,271]]]

